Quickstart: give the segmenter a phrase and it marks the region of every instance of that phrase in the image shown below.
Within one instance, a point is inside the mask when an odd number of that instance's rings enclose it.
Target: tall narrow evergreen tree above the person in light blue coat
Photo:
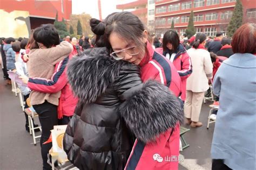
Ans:
[[[242,25],[242,3],[237,0],[230,23],[227,26],[227,36],[232,37],[234,32]]]

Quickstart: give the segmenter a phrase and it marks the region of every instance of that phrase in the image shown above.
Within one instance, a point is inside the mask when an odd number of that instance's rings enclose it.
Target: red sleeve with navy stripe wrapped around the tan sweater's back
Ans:
[[[66,75],[66,64],[69,61],[69,57],[60,61],[56,65],[56,71],[51,80],[42,79],[38,77],[30,77],[28,81],[28,87],[31,90],[39,91],[41,93],[57,93],[68,83],[68,77]]]

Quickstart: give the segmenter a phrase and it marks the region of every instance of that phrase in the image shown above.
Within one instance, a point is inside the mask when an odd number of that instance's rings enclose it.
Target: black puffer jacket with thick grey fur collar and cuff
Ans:
[[[79,169],[123,169],[134,142],[126,124],[133,125],[130,129],[138,140],[154,140],[180,120],[177,116],[180,110],[174,109],[179,103],[167,87],[153,81],[143,84],[137,66],[111,59],[105,48],[93,48],[89,55],[74,58],[68,67],[70,86],[79,102],[66,129],[64,150]],[[151,103],[159,95],[163,95],[161,100]],[[129,108],[129,103],[124,102],[128,99],[132,104],[143,102],[137,115],[129,118],[119,113],[122,103],[125,104],[122,109],[136,112],[136,108]],[[159,112],[159,107],[163,107],[159,101],[166,102],[166,110],[170,111],[159,114],[159,119],[143,115],[142,107],[145,112],[150,109],[151,113]],[[170,107],[169,102],[172,102]],[[140,119],[144,122],[139,122]]]

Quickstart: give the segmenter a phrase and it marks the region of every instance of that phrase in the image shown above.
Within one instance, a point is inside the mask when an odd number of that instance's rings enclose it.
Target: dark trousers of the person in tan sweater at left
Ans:
[[[58,125],[57,106],[45,101],[43,104],[33,105],[33,108],[36,110],[42,126],[40,145],[43,158],[43,169],[51,169],[51,166],[47,162],[47,155],[52,147],[52,143],[43,143],[50,137],[50,130],[53,129],[53,126]]]

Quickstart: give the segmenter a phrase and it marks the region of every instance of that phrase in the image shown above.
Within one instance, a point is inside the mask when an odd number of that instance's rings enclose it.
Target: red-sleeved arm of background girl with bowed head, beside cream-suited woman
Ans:
[[[187,53],[181,54],[182,68],[178,70],[181,80],[187,79],[192,73],[192,64],[190,56]]]

